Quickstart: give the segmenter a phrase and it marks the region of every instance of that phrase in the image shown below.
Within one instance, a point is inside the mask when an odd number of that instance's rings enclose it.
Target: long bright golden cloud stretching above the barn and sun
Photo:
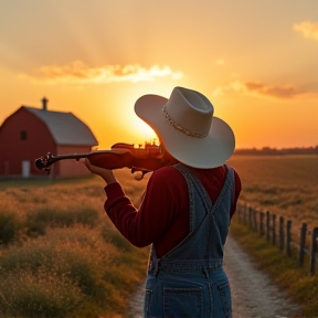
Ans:
[[[105,65],[89,67],[82,61],[75,61],[66,65],[46,65],[36,70],[35,75],[22,73],[20,78],[31,80],[44,84],[105,84],[114,82],[149,82],[156,77],[168,77],[179,80],[183,77],[181,72],[172,72],[166,65],[160,67],[152,65],[149,68],[139,64],[129,65]]]

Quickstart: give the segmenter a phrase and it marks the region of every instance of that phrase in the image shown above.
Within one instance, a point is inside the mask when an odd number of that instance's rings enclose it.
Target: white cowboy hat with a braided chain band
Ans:
[[[199,92],[174,87],[169,99],[144,95],[135,112],[157,134],[167,151],[194,168],[222,166],[233,153],[231,127],[213,116],[213,105]]]

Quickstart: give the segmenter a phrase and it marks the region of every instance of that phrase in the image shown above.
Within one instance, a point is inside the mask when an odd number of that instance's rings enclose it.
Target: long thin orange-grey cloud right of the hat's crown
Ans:
[[[278,99],[292,99],[295,97],[318,96],[318,92],[293,85],[267,85],[258,82],[234,81],[225,86],[219,86],[212,92],[212,96],[224,96],[231,93],[240,93],[256,97],[272,97]]]

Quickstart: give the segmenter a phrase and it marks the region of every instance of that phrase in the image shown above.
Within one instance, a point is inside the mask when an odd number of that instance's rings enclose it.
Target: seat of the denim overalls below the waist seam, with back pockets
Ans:
[[[225,272],[148,274],[145,318],[229,318],[231,290]]]

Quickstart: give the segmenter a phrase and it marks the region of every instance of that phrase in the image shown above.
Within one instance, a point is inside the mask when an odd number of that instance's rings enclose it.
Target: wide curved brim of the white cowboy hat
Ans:
[[[202,169],[220,167],[230,159],[235,149],[235,137],[224,120],[213,116],[206,137],[188,136],[166,119],[162,107],[167,102],[159,95],[144,95],[137,99],[135,113],[155,130],[172,157]]]

